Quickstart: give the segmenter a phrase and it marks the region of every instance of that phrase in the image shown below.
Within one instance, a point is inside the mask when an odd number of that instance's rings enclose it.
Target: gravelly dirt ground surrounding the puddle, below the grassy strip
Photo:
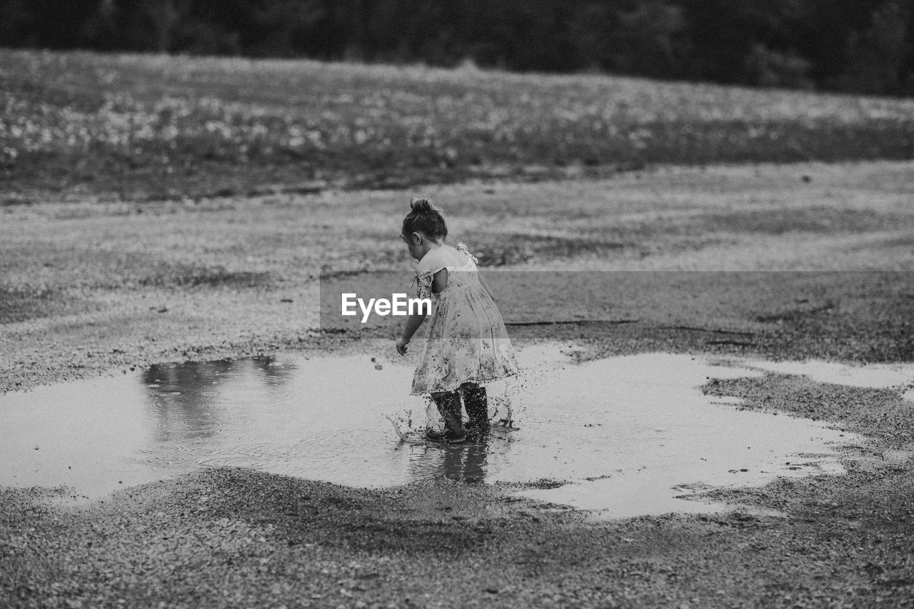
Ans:
[[[175,360],[357,351],[381,338],[392,351],[392,327],[322,331],[318,278],[409,276],[397,234],[419,191],[493,273],[624,271],[607,273],[599,309],[575,308],[560,289],[533,301],[505,273],[498,295],[520,343],[572,338],[586,358],[661,350],[911,362],[911,176],[909,162],[711,166],[602,181],[7,206],[0,391]],[[540,323],[557,310],[568,323]],[[779,375],[706,390],[872,443],[847,455],[842,477],[713,494],[771,516],[594,523],[498,487],[367,491],[229,469],[82,508],[43,501],[55,491],[3,488],[0,604],[914,604],[914,461],[898,453],[914,447],[911,402]]]

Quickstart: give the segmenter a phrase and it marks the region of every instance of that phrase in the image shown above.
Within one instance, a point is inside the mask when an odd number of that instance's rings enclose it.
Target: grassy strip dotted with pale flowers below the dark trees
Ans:
[[[15,201],[912,157],[910,100],[604,76],[0,50],[0,176]]]

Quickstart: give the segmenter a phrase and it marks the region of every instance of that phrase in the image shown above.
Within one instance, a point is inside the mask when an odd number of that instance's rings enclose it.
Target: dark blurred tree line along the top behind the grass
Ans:
[[[0,0],[0,46],[914,95],[914,0]]]

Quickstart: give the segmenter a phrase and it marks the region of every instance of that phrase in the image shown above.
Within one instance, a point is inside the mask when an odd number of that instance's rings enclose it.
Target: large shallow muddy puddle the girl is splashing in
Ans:
[[[438,421],[407,395],[409,362],[382,353],[171,364],[8,394],[0,485],[94,498],[229,465],[347,486],[504,484],[612,518],[716,510],[690,500],[715,486],[840,475],[840,446],[865,442],[700,390],[712,378],[804,374],[806,365],[666,354],[575,364],[568,348],[546,345],[521,350],[524,373],[489,388],[494,420],[510,422],[484,442],[442,447],[421,439]],[[914,380],[910,367],[863,370],[850,371],[855,382]],[[840,369],[830,373],[842,382]]]

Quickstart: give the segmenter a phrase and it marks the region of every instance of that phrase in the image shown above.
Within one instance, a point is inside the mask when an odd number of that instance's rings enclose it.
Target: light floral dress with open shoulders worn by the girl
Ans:
[[[466,255],[461,266],[443,266],[416,275],[420,298],[437,299],[431,317],[425,352],[412,378],[411,395],[453,391],[465,382],[485,383],[517,373],[517,361],[505,322],[492,294],[479,281],[478,262]],[[436,272],[448,270],[448,284],[440,294],[431,292]]]

